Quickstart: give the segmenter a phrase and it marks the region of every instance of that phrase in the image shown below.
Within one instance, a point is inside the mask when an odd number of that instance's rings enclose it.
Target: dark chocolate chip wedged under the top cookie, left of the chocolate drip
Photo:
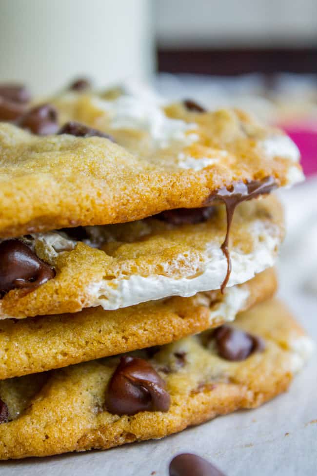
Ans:
[[[177,208],[166,210],[155,215],[154,218],[170,223],[171,225],[195,225],[208,220],[215,213],[215,207]]]

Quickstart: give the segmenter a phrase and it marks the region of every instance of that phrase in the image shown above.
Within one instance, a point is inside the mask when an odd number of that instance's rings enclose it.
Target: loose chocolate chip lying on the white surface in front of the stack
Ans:
[[[209,461],[191,453],[175,456],[170,462],[169,474],[170,476],[225,476]]]

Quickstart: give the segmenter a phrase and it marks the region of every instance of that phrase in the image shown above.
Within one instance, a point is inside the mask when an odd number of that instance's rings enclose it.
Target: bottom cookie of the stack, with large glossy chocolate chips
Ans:
[[[134,353],[120,367],[112,357],[0,381],[0,458],[106,449],[257,407],[288,388],[312,350],[276,300],[216,332]]]

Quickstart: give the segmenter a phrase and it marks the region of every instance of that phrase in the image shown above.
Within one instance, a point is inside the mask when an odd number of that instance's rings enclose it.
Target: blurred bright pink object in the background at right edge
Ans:
[[[317,174],[317,123],[279,124],[300,150],[306,176]]]

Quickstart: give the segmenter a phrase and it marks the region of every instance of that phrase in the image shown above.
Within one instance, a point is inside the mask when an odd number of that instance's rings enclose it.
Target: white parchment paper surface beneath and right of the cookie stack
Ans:
[[[281,198],[289,236],[281,254],[279,295],[317,342],[317,291],[309,286],[309,279],[317,277],[317,237],[312,239],[317,180],[285,191]],[[228,476],[316,476],[316,352],[288,393],[257,410],[218,417],[162,440],[104,452],[2,462],[0,475],[167,476],[170,459],[181,452],[208,458]]]

